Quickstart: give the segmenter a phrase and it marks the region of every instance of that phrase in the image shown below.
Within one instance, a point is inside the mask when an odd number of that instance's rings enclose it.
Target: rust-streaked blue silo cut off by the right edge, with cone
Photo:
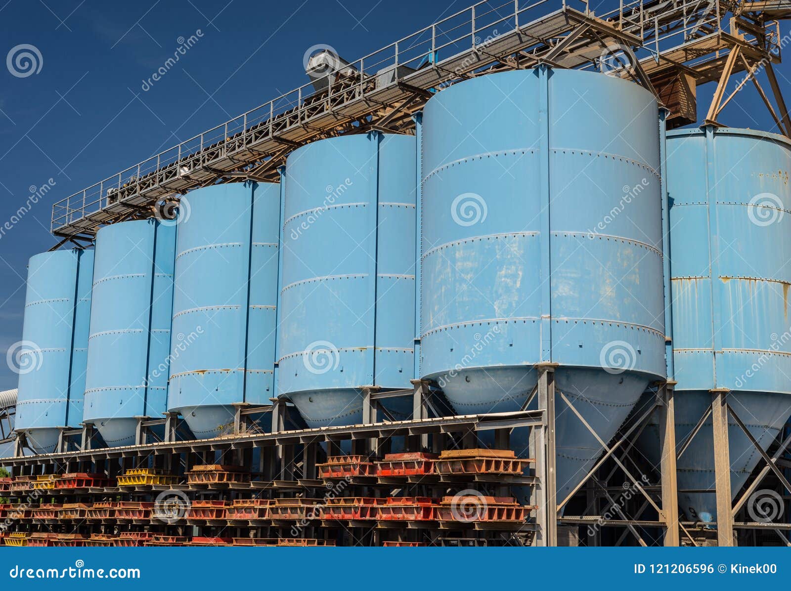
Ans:
[[[766,450],[791,416],[791,143],[753,130],[668,132],[676,442],[687,439],[713,389]],[[639,440],[655,463],[656,427]],[[760,459],[729,423],[731,491]],[[679,507],[716,521],[711,420],[679,457]]]

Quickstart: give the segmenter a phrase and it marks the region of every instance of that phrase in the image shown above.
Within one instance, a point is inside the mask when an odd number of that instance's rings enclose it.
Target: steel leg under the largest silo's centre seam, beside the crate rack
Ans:
[[[539,372],[539,410],[543,411],[543,424],[536,427],[536,472],[539,476],[539,544],[558,545],[558,492],[555,470],[554,445],[554,367],[536,366]]]

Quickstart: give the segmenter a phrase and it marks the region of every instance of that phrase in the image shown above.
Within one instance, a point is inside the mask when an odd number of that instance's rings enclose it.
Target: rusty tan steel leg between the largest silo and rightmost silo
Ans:
[[[662,476],[662,513],[664,514],[664,545],[679,545],[679,498],[676,481],[676,402],[674,384],[660,387],[659,447]]]

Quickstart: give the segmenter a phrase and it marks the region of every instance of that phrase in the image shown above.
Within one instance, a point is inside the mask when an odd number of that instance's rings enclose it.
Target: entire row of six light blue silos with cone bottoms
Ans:
[[[458,413],[501,412],[552,363],[558,392],[605,441],[669,370],[679,441],[726,387],[767,446],[791,416],[778,380],[791,345],[766,340],[787,332],[789,168],[772,134],[665,134],[653,95],[613,77],[539,67],[453,85],[416,137],[316,141],[289,156],[279,185],[206,187],[183,198],[176,225],[103,228],[95,265],[89,251],[32,258],[25,340],[62,355],[27,378],[39,382],[21,379],[17,428],[46,450],[57,427],[91,420],[121,445],[135,416],[171,410],[209,437],[235,403],[274,396],[312,427],[359,423],[366,386],[413,378],[439,383]],[[55,258],[73,263],[39,285]],[[90,324],[75,279],[87,269]],[[70,319],[52,344],[52,312],[35,306],[50,299]],[[770,367],[740,377],[764,357]],[[411,412],[399,400],[393,418]],[[557,405],[565,496],[601,446]],[[736,429],[734,494],[758,460]],[[655,434],[641,441],[649,457]],[[713,485],[708,437],[679,461],[679,487]],[[518,432],[511,444],[527,446]],[[711,494],[681,503],[713,518]]]

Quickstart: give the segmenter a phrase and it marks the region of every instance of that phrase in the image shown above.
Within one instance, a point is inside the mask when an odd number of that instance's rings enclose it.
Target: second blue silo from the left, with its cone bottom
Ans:
[[[96,244],[85,421],[115,447],[134,443],[134,417],[167,409],[176,227],[121,222]]]

